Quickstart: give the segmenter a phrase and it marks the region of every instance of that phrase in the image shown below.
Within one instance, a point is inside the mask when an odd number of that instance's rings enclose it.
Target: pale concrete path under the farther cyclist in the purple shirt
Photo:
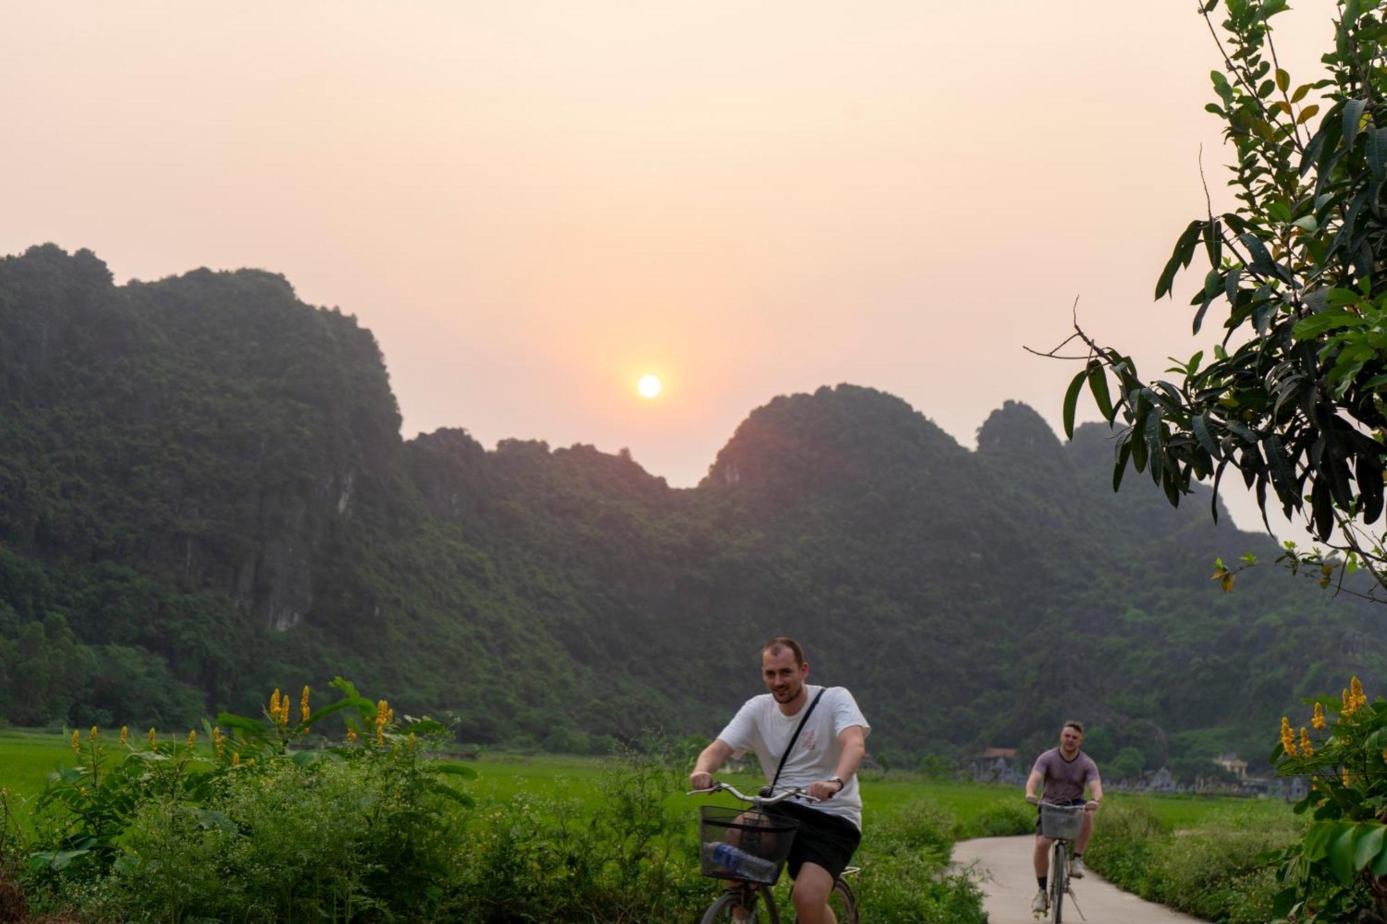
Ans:
[[[1031,914],[1031,900],[1036,895],[1036,875],[1031,867],[1035,838],[979,838],[954,845],[954,863],[978,864],[982,891],[988,893],[983,907],[989,924],[1036,924]],[[1082,924],[1200,924],[1200,918],[1179,914],[1164,905],[1143,902],[1099,878],[1092,870],[1074,881],[1078,907],[1064,903],[1064,921]],[[1083,917],[1079,917],[1079,912]]]

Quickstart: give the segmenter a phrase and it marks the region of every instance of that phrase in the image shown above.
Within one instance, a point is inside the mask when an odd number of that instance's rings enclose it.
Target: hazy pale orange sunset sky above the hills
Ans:
[[[1143,372],[1212,343],[1193,280],[1151,301],[1201,143],[1229,201],[1193,7],[12,0],[0,253],[284,273],[374,332],[406,437],[628,447],[675,486],[820,384],[965,445],[1007,398],[1058,429],[1075,368],[1022,344],[1075,297]],[[1297,7],[1302,82],[1334,4]]]

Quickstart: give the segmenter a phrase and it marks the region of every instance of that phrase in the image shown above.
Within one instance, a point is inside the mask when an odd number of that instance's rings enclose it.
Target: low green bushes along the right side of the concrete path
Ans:
[[[1173,831],[1147,806],[1117,805],[1100,814],[1085,860],[1123,891],[1226,924],[1266,924],[1280,891],[1276,853],[1301,825],[1248,807],[1211,813],[1204,827]]]

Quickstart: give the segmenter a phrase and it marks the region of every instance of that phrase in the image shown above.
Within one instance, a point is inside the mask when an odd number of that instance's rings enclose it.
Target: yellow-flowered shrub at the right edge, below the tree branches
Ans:
[[[1387,916],[1387,701],[1369,702],[1354,677],[1340,696],[1309,705],[1308,726],[1282,719],[1270,756],[1283,776],[1311,778],[1295,812],[1313,817],[1283,855],[1275,910],[1334,921],[1362,910]]]

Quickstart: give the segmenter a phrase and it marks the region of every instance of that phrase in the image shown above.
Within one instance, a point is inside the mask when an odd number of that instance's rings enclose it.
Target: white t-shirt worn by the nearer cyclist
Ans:
[[[755,751],[761,760],[761,771],[766,781],[775,777],[775,767],[781,755],[789,746],[789,738],[799,727],[799,720],[809,703],[814,702],[822,687],[804,684],[809,696],[804,705],[793,716],[786,716],[779,710],[779,703],[770,694],[752,696],[748,699],[727,728],[718,733],[718,738],[732,749],[734,756],[741,756],[748,751]],[[824,691],[824,698],[814,706],[804,730],[795,741],[795,753],[785,759],[779,782],[782,787],[807,787],[811,782],[821,782],[834,776],[838,769],[838,759],[843,749],[838,744],[838,735],[843,728],[861,726],[863,737],[871,731],[871,726],[863,719],[853,695],[842,687],[829,687]],[[822,802],[804,802],[811,809],[827,812],[847,819],[861,831],[863,827],[863,799],[857,791],[857,774],[846,781],[842,791],[832,799]]]

